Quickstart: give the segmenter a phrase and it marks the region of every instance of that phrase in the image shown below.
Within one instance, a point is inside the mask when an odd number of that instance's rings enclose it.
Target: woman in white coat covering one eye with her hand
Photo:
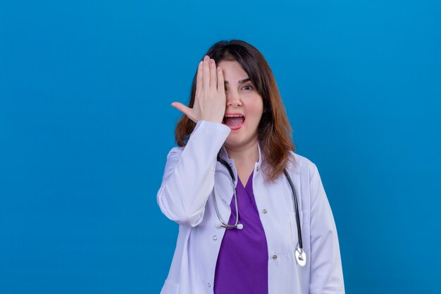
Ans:
[[[157,200],[180,228],[161,293],[344,293],[328,199],[316,166],[294,153],[262,54],[240,40],[214,44],[189,106],[172,106],[184,114],[179,147]]]

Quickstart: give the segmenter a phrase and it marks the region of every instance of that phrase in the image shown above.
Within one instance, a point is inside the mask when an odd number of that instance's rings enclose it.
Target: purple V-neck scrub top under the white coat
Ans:
[[[254,172],[253,172],[254,173]],[[214,275],[214,294],[268,294],[268,247],[253,193],[253,173],[245,187],[237,181],[239,223],[244,228],[226,229]],[[228,224],[236,220],[232,197]]]

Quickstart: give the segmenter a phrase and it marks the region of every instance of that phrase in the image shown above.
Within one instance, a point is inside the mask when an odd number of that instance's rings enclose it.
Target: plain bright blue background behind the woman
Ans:
[[[197,63],[271,65],[347,293],[441,293],[439,1],[1,1],[0,293],[159,293],[156,204]]]

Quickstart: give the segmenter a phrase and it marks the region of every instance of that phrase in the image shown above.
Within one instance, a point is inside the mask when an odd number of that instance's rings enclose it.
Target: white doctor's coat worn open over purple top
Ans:
[[[213,293],[219,248],[225,228],[219,223],[213,203],[213,187],[221,218],[230,218],[232,180],[216,157],[221,150],[235,173],[232,159],[223,147],[230,128],[221,123],[199,121],[186,147],[174,147],[167,157],[157,201],[168,219],[180,224],[175,254],[161,294]],[[290,185],[284,175],[266,183],[254,166],[253,191],[268,245],[268,293],[344,293],[337,231],[316,166],[298,154],[287,166],[299,202],[302,238],[307,262],[297,264],[296,216]],[[264,160],[264,159],[263,159]]]

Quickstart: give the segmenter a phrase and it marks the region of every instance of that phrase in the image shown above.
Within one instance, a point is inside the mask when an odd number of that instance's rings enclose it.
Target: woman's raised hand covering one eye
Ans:
[[[171,105],[182,111],[195,123],[198,121],[221,123],[225,114],[226,103],[222,69],[219,67],[216,69],[214,59],[205,56],[197,68],[193,108],[189,108],[180,102],[173,102]]]

